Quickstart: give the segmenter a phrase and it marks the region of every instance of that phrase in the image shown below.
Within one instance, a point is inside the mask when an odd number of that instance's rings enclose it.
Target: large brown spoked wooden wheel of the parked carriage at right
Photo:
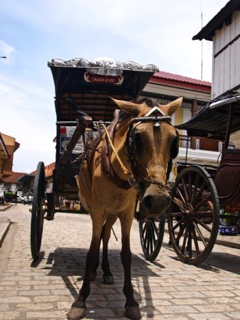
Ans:
[[[219,229],[219,199],[202,167],[190,166],[178,175],[171,190],[168,227],[182,262],[199,264],[211,253]]]

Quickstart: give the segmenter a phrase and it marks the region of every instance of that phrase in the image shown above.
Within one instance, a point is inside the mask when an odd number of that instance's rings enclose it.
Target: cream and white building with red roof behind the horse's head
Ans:
[[[184,97],[182,108],[173,115],[173,125],[185,123],[211,100],[211,82],[206,82],[182,75],[159,71],[145,86],[143,97],[156,98],[159,103],[168,103],[180,96]],[[191,164],[210,164],[217,166],[222,142],[200,137],[187,137],[187,132],[180,130],[180,149],[175,163],[184,164],[188,145],[187,162]]]

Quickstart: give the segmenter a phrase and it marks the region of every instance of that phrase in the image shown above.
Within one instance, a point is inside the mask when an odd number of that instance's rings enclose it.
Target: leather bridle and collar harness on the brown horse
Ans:
[[[166,116],[158,107],[155,106],[149,112],[147,112],[145,116],[136,117],[130,121],[127,138],[125,140],[125,147],[128,151],[127,156],[128,156],[128,161],[130,163],[131,171],[133,173],[133,177],[132,177],[131,173],[128,172],[128,170],[124,167],[121,160],[119,161],[118,159],[119,156],[115,152],[115,149],[111,142],[111,140],[113,140],[114,138],[115,127],[117,123],[121,121],[119,120],[120,113],[121,113],[120,110],[115,110],[115,119],[112,121],[108,129],[104,125],[102,125],[102,127],[104,127],[104,130],[106,131],[106,140],[104,143],[104,147],[101,151],[101,165],[104,171],[108,174],[108,177],[110,177],[111,180],[115,182],[117,186],[119,186],[119,188],[123,188],[125,190],[128,190],[129,188],[134,187],[139,192],[142,189],[141,183],[143,182],[144,184],[148,184],[148,185],[155,184],[159,187],[165,188],[166,184],[163,182],[150,179],[149,177],[141,177],[141,174],[137,169],[136,161],[134,159],[134,153],[136,151],[135,129],[139,124],[145,123],[145,122],[153,122],[154,127],[160,127],[160,124],[163,121],[169,121],[169,123],[171,123],[171,116]],[[125,173],[126,177],[128,177],[127,180],[121,179],[121,177],[119,177],[119,175],[117,175],[117,173],[115,173],[114,169],[112,168],[112,165],[110,163],[112,151],[115,152],[115,156],[117,157],[117,160],[119,161],[123,172]],[[173,141],[173,144],[171,146],[171,158],[167,166],[166,180],[168,180],[169,174],[171,172],[172,159],[176,158],[177,155],[178,155],[178,132],[176,130],[176,139]]]

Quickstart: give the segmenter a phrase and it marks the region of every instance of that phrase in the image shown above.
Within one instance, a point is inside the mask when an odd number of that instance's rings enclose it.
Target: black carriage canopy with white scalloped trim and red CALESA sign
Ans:
[[[66,99],[77,106],[94,121],[112,121],[115,104],[109,97],[135,100],[154,72],[156,66],[141,66],[134,62],[97,61],[84,59],[51,60],[56,90],[57,121],[74,121],[77,111],[69,107]]]

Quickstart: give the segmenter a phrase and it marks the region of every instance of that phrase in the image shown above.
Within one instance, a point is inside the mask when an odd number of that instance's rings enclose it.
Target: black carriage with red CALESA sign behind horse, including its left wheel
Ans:
[[[56,94],[56,162],[52,187],[47,190],[43,162],[38,163],[36,170],[31,222],[34,259],[39,256],[44,219],[53,220],[55,212],[62,211],[60,199],[79,200],[75,175],[80,171],[79,157],[84,149],[82,134],[86,131],[84,137],[93,138],[94,123],[112,121],[116,105],[109,97],[137,99],[158,71],[152,64],[141,66],[113,60],[53,59],[48,66]]]

